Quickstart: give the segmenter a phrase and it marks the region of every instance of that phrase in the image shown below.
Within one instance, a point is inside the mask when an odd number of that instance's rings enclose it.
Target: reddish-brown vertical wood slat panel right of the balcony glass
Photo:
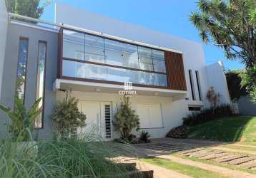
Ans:
[[[165,51],[168,88],[187,90],[182,54]]]

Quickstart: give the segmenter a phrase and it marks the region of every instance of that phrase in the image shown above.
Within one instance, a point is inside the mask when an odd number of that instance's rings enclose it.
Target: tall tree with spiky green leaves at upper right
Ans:
[[[228,59],[256,65],[256,1],[199,0],[189,20],[205,43],[220,46]]]

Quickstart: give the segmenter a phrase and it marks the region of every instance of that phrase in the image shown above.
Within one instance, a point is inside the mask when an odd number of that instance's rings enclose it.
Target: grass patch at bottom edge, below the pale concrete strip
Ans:
[[[159,167],[164,167],[167,169],[172,169],[173,171],[182,173],[182,174],[187,174],[191,177],[200,177],[200,178],[222,178],[225,177],[222,174],[208,171],[205,169],[201,169],[198,167],[192,167],[186,164],[180,164],[177,162],[172,162],[166,159],[160,159],[160,158],[150,158],[150,159],[141,159],[142,162],[147,162],[150,164],[155,164]]]

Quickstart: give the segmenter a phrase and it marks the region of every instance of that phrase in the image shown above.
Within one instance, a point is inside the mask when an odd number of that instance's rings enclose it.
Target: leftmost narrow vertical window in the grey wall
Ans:
[[[18,67],[16,75],[16,96],[24,103],[26,88],[26,61],[29,51],[29,39],[19,39]]]

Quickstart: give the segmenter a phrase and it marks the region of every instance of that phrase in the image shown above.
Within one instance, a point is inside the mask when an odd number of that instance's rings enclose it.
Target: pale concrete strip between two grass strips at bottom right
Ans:
[[[206,170],[209,170],[209,171],[212,171],[212,172],[218,172],[218,173],[223,174],[227,177],[256,178],[255,174],[250,174],[250,173],[247,173],[247,172],[241,172],[241,171],[237,171],[237,170],[227,169],[225,167],[218,167],[218,166],[215,166],[215,165],[212,165],[212,164],[206,164],[206,163],[202,163],[202,162],[195,162],[195,161],[192,161],[192,160],[182,159],[182,158],[174,157],[174,156],[171,156],[171,155],[160,155],[160,156],[157,156],[157,157],[162,158],[162,159],[168,159],[168,160],[171,160],[173,162],[179,162],[181,164],[187,164],[187,165],[190,165],[190,166],[193,166],[193,167],[199,167],[201,169],[206,169]]]

